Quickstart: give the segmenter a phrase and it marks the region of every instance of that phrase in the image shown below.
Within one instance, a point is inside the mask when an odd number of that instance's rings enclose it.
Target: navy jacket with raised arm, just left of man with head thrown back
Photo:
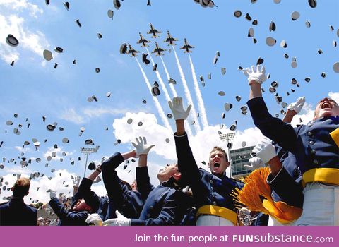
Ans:
[[[109,212],[105,219],[116,218],[115,210],[128,218],[138,218],[145,200],[138,191],[131,191],[119,179],[115,169],[124,162],[124,157],[119,152],[102,162],[102,179],[109,197]]]

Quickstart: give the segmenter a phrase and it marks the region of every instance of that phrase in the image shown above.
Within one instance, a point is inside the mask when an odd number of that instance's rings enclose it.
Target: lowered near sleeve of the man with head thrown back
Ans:
[[[181,192],[176,191],[169,195],[159,216],[155,219],[131,219],[132,226],[173,226],[181,222],[184,217],[184,203]]]

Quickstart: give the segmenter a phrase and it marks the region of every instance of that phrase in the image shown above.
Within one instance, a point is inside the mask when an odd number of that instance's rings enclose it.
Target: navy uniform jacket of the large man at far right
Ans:
[[[293,128],[269,114],[263,97],[255,97],[249,100],[247,105],[254,124],[263,135],[295,155],[301,174],[314,168],[339,168],[339,147],[330,135],[339,128],[339,116],[326,116]],[[269,176],[268,181],[270,180],[273,180],[273,183],[270,183],[277,193],[281,191],[286,194],[295,190],[294,181],[286,169],[282,169],[274,179]]]

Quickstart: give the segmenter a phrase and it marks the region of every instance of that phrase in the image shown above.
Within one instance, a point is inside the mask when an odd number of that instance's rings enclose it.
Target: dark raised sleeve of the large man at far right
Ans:
[[[269,114],[263,97],[255,97],[247,102],[254,125],[266,137],[278,143],[283,150],[295,153],[297,150],[297,133],[288,123]]]

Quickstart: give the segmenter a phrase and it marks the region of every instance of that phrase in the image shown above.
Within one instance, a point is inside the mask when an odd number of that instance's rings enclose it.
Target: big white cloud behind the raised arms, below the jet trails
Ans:
[[[128,124],[127,119],[133,119],[133,123]],[[138,122],[141,121],[143,126],[138,126]],[[139,112],[138,114],[126,113],[121,119],[115,119],[113,123],[115,137],[121,140],[121,143],[131,143],[135,141],[138,136],[145,136],[149,145],[155,145],[150,152],[155,152],[156,155],[171,161],[177,161],[177,155],[175,151],[175,143],[173,133],[157,123],[157,119],[154,114],[146,114]],[[208,163],[208,157],[210,150],[214,146],[223,147],[227,149],[227,143],[220,140],[218,131],[219,126],[208,126],[194,136],[189,136],[189,143],[191,150],[196,159],[196,163],[199,167],[206,168],[201,164],[205,161]],[[230,131],[225,131],[228,133]],[[233,148],[240,148],[242,141],[246,141],[247,146],[255,145],[258,140],[262,138],[261,132],[258,128],[249,128],[244,131],[237,131],[234,138]],[[169,143],[166,143],[165,139],[169,138]],[[166,164],[164,161],[163,164]]]

